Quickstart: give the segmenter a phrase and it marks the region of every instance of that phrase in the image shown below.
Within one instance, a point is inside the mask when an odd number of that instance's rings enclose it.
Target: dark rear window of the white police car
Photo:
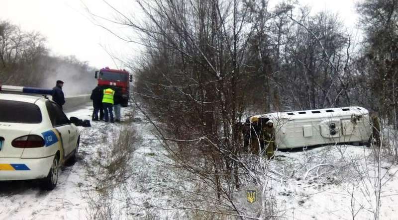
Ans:
[[[32,103],[0,100],[0,122],[38,124],[41,123],[40,108]]]

